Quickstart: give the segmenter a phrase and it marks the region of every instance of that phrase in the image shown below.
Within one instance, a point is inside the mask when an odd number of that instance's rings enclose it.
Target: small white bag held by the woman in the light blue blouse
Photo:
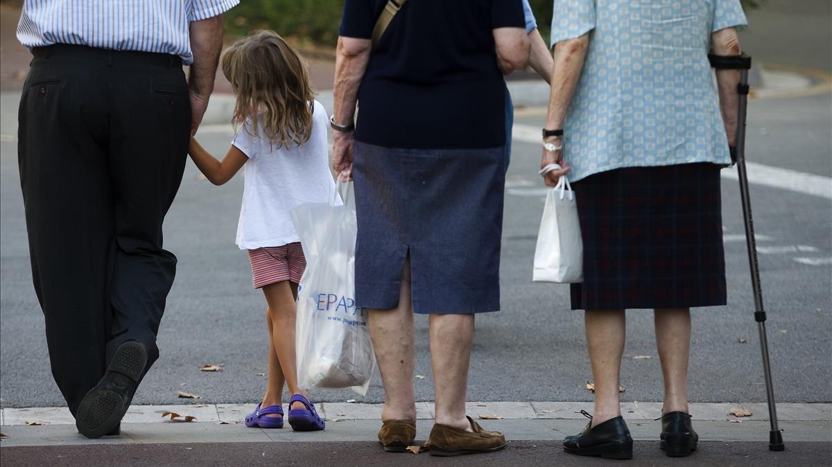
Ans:
[[[540,174],[546,175],[560,168],[560,165],[550,164]],[[562,176],[557,186],[546,194],[546,206],[543,208],[537,248],[534,251],[532,280],[549,283],[583,282],[581,224],[577,217],[575,192],[566,176]]]

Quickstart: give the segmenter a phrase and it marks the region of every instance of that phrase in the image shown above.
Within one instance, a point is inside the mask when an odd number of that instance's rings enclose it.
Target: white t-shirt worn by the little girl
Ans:
[[[335,183],[329,171],[324,106],[314,101],[312,133],[303,145],[270,143],[250,134],[251,121],[237,130],[231,145],[249,158],[245,162],[245,188],[237,246],[240,249],[279,247],[298,242],[290,212],[300,204],[329,203]]]

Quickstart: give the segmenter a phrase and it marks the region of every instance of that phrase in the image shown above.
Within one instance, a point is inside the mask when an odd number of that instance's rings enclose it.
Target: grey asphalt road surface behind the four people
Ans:
[[[750,19],[752,24],[755,17],[765,24],[784,18],[777,23],[788,26],[783,33],[766,39],[752,29],[745,33],[745,45],[753,46],[758,51],[755,57],[764,61],[828,71],[830,54],[822,53],[829,47],[823,42],[829,32],[829,15],[822,16],[826,7],[820,11],[803,5],[790,12],[777,8],[765,14],[752,12]],[[820,33],[816,22],[822,23]],[[797,27],[800,24],[806,27]],[[820,44],[820,49],[807,51],[812,44]],[[790,50],[795,52],[790,54]],[[752,101],[749,160],[832,176],[830,108],[829,93]],[[5,120],[14,115],[13,110],[4,109],[2,115],[2,126],[7,128]],[[542,116],[520,116],[517,122],[539,127]],[[230,131],[206,133],[200,140],[221,155]],[[539,151],[537,145],[514,145],[503,229],[503,311],[478,317],[468,388],[471,401],[592,399],[584,389],[591,371],[582,314],[568,310],[566,286],[531,281],[543,207],[536,175]],[[248,259],[234,245],[242,182],[237,176],[216,188],[198,179],[190,163],[186,169],[165,225],[166,247],[180,262],[161,324],[161,358],[136,394],[136,403],[182,402],[177,390],[196,393],[206,402],[256,401],[262,395],[265,378],[258,373],[265,371],[265,301],[259,291],[252,290]],[[769,253],[760,254],[760,268],[769,312],[775,394],[780,401],[832,401],[832,266],[795,261],[832,256],[830,199],[761,185],[752,185],[751,194],[757,233],[765,236],[759,245],[769,248]],[[723,214],[729,236],[728,306],[693,313],[691,401],[765,401],[741,240],[739,190],[734,181],[724,180]],[[0,405],[60,406],[63,401],[49,371],[42,313],[32,290],[16,143],[7,140],[0,142],[0,237]],[[790,248],[803,251],[784,251]],[[648,311],[632,311],[627,316],[622,367],[625,401],[661,400],[651,321]],[[416,372],[426,376],[414,381],[418,400],[433,400],[427,342],[427,322],[417,317]],[[635,355],[651,358],[632,359]],[[206,363],[223,364],[224,370],[200,371]],[[315,391],[313,399],[379,402],[383,392],[376,376],[364,397],[349,391]]]

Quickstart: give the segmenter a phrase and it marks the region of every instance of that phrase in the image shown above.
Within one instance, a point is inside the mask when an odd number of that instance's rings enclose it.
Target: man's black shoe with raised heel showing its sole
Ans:
[[[87,438],[101,438],[120,432],[121,418],[127,412],[136,386],[147,365],[144,344],[129,341],[116,349],[101,381],[78,406],[75,426]]]

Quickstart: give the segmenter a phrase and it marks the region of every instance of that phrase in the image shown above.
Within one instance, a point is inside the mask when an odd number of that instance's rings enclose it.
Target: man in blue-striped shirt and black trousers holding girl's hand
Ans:
[[[18,158],[52,375],[91,438],[118,434],[159,356],[176,273],[161,226],[239,0],[26,0]],[[182,64],[190,65],[188,79]]]

